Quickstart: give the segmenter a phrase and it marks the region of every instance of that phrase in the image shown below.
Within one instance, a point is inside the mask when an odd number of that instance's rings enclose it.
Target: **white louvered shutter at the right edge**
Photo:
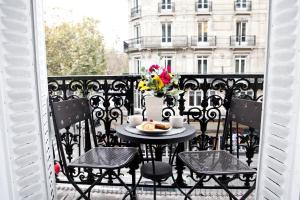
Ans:
[[[269,57],[256,194],[257,199],[298,200],[299,190],[291,191],[296,175],[295,141],[300,134],[300,0],[270,2]]]

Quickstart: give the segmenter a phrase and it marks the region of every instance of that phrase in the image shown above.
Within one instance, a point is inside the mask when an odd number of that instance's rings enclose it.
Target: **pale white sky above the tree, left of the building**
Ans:
[[[123,41],[128,39],[127,4],[128,0],[45,0],[45,21],[53,25],[93,17],[100,21],[106,47],[123,51]]]

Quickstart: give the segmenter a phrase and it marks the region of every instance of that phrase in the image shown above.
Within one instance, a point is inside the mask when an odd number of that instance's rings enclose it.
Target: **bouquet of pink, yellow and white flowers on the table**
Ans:
[[[176,96],[183,91],[179,89],[179,75],[171,72],[171,67],[151,65],[149,69],[142,69],[142,79],[138,89],[156,97]]]

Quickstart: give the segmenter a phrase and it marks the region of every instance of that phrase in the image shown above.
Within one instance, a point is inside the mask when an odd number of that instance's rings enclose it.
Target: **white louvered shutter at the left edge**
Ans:
[[[55,199],[41,16],[41,0],[0,0],[0,157],[5,163],[0,180],[6,181],[0,191],[4,199]]]

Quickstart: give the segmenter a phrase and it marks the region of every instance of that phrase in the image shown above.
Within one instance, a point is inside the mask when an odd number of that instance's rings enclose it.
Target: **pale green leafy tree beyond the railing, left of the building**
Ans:
[[[105,74],[103,37],[97,26],[98,21],[92,18],[46,26],[48,74]]]

